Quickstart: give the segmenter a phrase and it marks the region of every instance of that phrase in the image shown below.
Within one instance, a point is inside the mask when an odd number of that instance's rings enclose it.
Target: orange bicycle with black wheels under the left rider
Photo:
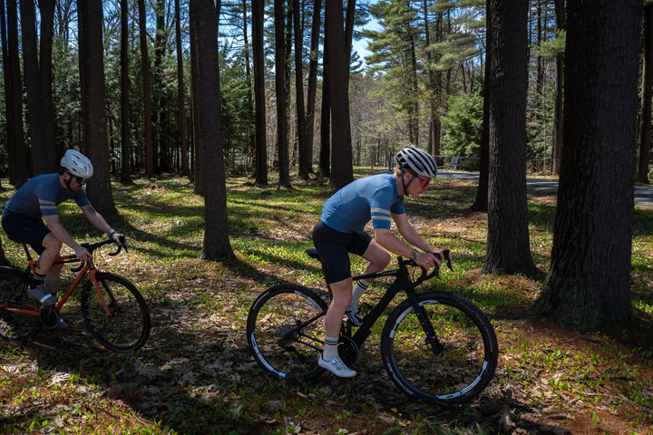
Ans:
[[[124,237],[122,237],[124,245]],[[112,238],[93,244],[83,244],[93,251],[115,243]],[[27,267],[22,270],[13,266],[0,266],[0,337],[6,340],[24,341],[43,329],[55,329],[59,313],[73,290],[88,274],[82,289],[82,314],[93,336],[104,347],[114,352],[136,351],[150,336],[150,311],[145,299],[136,287],[121,275],[101,272],[93,264],[93,256],[82,262],[73,272],[78,273],[61,300],[56,304],[41,305],[27,296],[37,261],[23,244]],[[117,256],[121,246],[110,256]],[[80,261],[74,255],[60,256],[54,264]]]

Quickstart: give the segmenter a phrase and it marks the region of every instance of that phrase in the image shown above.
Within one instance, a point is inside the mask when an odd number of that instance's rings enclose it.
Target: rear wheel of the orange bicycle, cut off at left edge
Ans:
[[[29,280],[24,270],[1,266],[0,304],[38,311],[38,307],[27,296],[27,285]],[[0,308],[0,337],[15,342],[28,340],[39,332],[38,322],[38,316],[13,313]]]

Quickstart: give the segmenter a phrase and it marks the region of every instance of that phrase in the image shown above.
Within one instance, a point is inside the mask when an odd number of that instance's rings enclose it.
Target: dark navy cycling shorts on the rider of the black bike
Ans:
[[[351,277],[349,253],[363,256],[372,237],[365,231],[341,233],[322,221],[313,227],[313,245],[322,261],[327,283],[337,283]]]

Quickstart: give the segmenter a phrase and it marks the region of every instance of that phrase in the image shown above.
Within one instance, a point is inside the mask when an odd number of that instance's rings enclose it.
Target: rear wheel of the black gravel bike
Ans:
[[[268,288],[248,314],[247,338],[254,359],[266,372],[282,378],[311,380],[321,375],[325,370],[317,360],[324,347],[325,324],[320,314],[326,311],[327,303],[301,285]]]

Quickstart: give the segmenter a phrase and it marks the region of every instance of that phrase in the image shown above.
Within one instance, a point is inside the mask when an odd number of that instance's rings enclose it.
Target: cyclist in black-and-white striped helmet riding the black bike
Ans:
[[[313,228],[313,244],[333,294],[325,316],[324,352],[318,363],[336,376],[348,378],[356,375],[356,371],[349,369],[338,357],[338,334],[344,314],[352,324],[361,324],[358,300],[372,284],[372,280],[361,279],[356,286],[353,285],[349,253],[369,261],[365,274],[381,272],[387,267],[391,259],[387,251],[410,257],[425,269],[441,264],[434,253],[442,256],[442,250],[429,245],[417,233],[408,222],[404,209],[404,196],[418,198],[435,177],[437,165],[434,157],[411,146],[400,150],[396,159],[394,174],[356,179],[327,199],[322,216]],[[365,225],[370,220],[374,238],[365,232]],[[399,234],[413,247],[393,234],[390,230],[392,221]]]

